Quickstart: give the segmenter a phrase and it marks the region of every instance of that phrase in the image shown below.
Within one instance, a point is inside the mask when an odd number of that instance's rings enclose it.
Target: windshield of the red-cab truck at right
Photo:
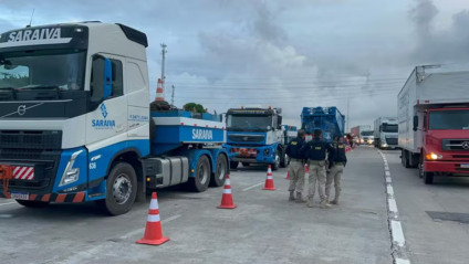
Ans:
[[[469,129],[469,110],[430,112],[428,128],[430,130]]]

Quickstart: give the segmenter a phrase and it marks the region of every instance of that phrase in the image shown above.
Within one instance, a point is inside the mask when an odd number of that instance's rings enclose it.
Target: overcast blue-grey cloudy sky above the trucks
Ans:
[[[167,45],[165,93],[210,113],[336,106],[347,127],[396,116],[416,65],[469,60],[467,0],[0,0],[0,32],[102,21],[147,34],[150,95]]]

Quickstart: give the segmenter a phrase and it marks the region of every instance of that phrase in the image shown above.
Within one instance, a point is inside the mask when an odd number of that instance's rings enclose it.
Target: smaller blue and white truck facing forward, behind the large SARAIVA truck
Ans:
[[[239,162],[272,165],[272,169],[285,167],[285,129],[282,128],[281,108],[231,108],[227,112],[227,142],[230,167]]]

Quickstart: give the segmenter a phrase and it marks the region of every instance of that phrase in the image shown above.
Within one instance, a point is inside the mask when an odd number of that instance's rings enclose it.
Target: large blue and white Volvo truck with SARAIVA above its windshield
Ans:
[[[146,189],[222,186],[225,124],[150,110],[145,33],[83,22],[0,35],[0,197],[96,201],[116,215]]]

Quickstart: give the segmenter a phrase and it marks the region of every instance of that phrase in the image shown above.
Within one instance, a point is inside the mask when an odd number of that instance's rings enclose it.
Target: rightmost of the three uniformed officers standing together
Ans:
[[[335,151],[330,156],[330,172],[325,182],[325,196],[327,200],[331,196],[332,181],[334,181],[335,198],[331,204],[338,204],[338,197],[341,196],[341,178],[344,172],[345,165],[347,163],[347,156],[345,155],[344,137],[340,136],[337,144],[334,146]]]

